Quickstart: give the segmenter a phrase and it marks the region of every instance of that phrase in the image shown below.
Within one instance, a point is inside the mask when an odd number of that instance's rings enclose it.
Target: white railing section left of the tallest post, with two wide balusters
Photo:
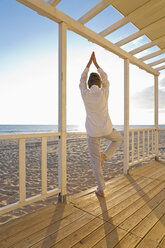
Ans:
[[[1,135],[0,140],[18,140],[19,141],[19,201],[0,208],[0,215],[11,210],[25,206],[32,202],[42,200],[61,192],[60,187],[47,191],[47,139],[48,137],[61,137],[61,133],[40,133],[40,134],[18,134]],[[41,138],[41,194],[26,198],[26,139]]]

